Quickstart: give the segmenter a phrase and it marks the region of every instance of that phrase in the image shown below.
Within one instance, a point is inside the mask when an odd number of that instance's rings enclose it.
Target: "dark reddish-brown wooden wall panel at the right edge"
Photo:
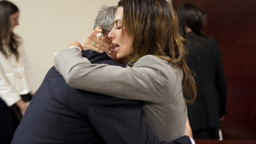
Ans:
[[[256,0],[173,0],[192,3],[208,14],[206,35],[223,58],[227,83],[224,139],[256,140]]]

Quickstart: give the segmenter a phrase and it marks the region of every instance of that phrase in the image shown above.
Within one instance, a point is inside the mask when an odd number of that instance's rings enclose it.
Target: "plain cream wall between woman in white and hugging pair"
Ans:
[[[24,42],[36,84],[40,86],[54,64],[54,53],[69,43],[83,42],[92,32],[101,5],[119,0],[10,0],[20,10],[14,30]]]

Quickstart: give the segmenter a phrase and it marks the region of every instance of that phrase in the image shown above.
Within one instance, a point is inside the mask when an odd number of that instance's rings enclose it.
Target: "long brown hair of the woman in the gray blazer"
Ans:
[[[124,9],[122,33],[133,36],[133,54],[129,66],[145,55],[154,55],[182,68],[182,92],[187,104],[196,97],[196,85],[186,64],[185,46],[179,33],[178,19],[166,0],[120,0]]]

